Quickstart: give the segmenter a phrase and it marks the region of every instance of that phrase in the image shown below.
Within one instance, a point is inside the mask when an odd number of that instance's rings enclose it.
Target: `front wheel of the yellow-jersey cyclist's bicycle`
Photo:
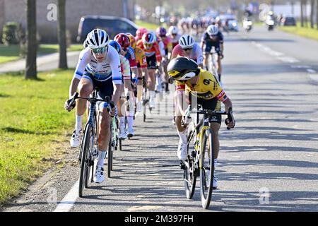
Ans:
[[[210,206],[213,191],[213,175],[214,175],[214,148],[213,136],[211,129],[204,132],[204,140],[201,143],[201,164],[200,168],[200,194],[202,207],[207,209]]]

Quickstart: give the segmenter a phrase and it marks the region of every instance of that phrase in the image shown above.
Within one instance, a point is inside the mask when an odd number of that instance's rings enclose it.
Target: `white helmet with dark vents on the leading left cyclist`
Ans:
[[[84,47],[90,47],[90,49],[97,49],[106,47],[110,42],[110,36],[105,30],[94,29],[88,33],[84,42]]]

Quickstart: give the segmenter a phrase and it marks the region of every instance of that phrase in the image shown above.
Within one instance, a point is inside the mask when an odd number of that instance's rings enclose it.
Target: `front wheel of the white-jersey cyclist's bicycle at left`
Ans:
[[[90,124],[86,125],[84,136],[82,139],[82,145],[81,145],[81,168],[80,168],[80,178],[79,178],[79,186],[78,186],[78,196],[83,197],[83,190],[84,186],[87,188],[87,177],[89,167],[88,167],[88,161],[89,161],[89,149],[90,149],[90,136],[92,126]]]

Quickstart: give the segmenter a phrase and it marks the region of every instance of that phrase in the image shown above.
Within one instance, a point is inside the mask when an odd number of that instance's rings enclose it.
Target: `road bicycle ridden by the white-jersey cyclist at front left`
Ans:
[[[97,89],[93,90],[90,97],[79,97],[78,93],[75,93],[73,97],[71,97],[70,105],[72,105],[76,99],[88,100],[89,102],[88,121],[83,131],[80,153],[78,155],[80,162],[78,196],[83,197],[84,187],[87,189],[89,183],[93,182],[95,159],[98,158],[98,112],[96,103],[107,102],[108,110],[110,111],[110,107],[114,107],[114,102],[112,102],[108,96],[105,97],[105,99],[99,99]]]

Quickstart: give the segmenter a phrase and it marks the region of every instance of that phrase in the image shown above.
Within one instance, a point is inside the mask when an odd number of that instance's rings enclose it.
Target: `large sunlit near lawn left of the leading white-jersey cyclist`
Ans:
[[[73,70],[25,81],[0,74],[0,205],[26,189],[65,154],[74,112],[64,110]]]

